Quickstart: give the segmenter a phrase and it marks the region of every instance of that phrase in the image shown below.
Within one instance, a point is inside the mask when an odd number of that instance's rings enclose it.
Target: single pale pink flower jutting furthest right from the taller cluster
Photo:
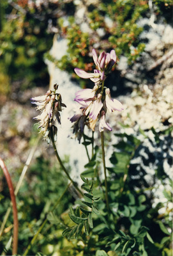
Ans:
[[[109,88],[105,89],[105,105],[106,105],[106,108],[109,110],[109,112],[113,112],[115,110],[122,111],[124,109],[121,102],[119,102],[116,99],[112,99],[110,97]]]

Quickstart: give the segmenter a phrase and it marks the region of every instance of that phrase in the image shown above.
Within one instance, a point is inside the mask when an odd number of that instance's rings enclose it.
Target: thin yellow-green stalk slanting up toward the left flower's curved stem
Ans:
[[[66,193],[67,189],[69,188],[70,186],[70,183],[68,184],[68,186],[66,187],[66,189],[64,190],[63,194],[60,196],[60,198],[57,200],[56,204],[54,204],[54,207],[52,208],[52,211],[50,212],[53,212],[57,205],[61,202],[64,194]],[[47,215],[50,213],[48,212]],[[43,227],[45,227],[45,224],[47,223],[47,218],[43,221],[43,223],[41,224],[40,228],[38,228],[38,231],[36,232],[36,234],[34,235],[33,239],[31,240],[31,243],[27,246],[26,248],[26,251],[24,252],[24,256],[27,255],[27,253],[29,252],[29,250],[31,249],[31,246],[34,244],[34,242],[36,241],[36,238],[38,237],[38,235],[40,234],[41,230],[43,229]]]

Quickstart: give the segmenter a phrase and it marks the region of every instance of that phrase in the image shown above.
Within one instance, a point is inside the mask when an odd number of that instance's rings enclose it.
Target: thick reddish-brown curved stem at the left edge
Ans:
[[[12,254],[15,255],[17,254],[17,246],[18,246],[18,218],[17,218],[17,205],[15,201],[15,193],[13,189],[13,184],[11,182],[11,177],[10,173],[8,172],[6,165],[4,164],[3,159],[0,157],[0,166],[3,169],[4,176],[6,178],[6,182],[8,184],[8,188],[10,190],[10,197],[11,197],[11,202],[12,202],[12,207],[13,207],[13,223],[14,223],[14,229],[13,229],[13,251]]]

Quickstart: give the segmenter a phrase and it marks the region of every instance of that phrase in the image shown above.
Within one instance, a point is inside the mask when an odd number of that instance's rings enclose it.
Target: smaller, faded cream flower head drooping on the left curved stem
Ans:
[[[43,132],[44,138],[49,137],[50,128],[54,132],[54,136],[57,134],[57,124],[61,124],[60,111],[66,105],[62,102],[61,94],[56,93],[58,88],[57,84],[54,84],[54,92],[47,91],[45,95],[31,98],[31,103],[36,104],[36,110],[40,110],[40,115],[34,117],[35,120],[39,120],[40,132]]]

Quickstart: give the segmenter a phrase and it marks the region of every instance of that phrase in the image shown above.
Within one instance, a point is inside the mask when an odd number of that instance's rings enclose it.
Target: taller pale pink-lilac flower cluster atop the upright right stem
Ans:
[[[75,122],[73,125],[73,132],[77,135],[79,141],[84,132],[84,126],[89,126],[93,131],[96,121],[100,120],[99,130],[104,129],[112,131],[110,125],[105,121],[107,111],[122,111],[123,105],[116,99],[110,97],[110,89],[104,86],[104,81],[107,74],[112,70],[116,64],[116,52],[112,50],[110,53],[104,51],[97,56],[95,49],[93,49],[93,60],[98,69],[94,69],[94,73],[87,73],[86,71],[75,68],[75,73],[84,79],[91,79],[94,82],[93,89],[79,90],[75,94],[75,101],[80,104],[80,109],[70,121]]]

